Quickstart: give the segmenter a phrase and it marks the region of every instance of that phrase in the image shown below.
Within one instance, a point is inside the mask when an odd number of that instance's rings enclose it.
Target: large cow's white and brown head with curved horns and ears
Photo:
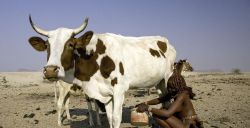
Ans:
[[[65,77],[65,71],[74,68],[74,49],[83,47],[82,40],[90,40],[93,32],[87,32],[80,38],[74,38],[81,33],[88,24],[88,18],[76,29],[58,28],[52,31],[46,31],[36,26],[29,16],[32,28],[40,35],[46,36],[47,40],[40,37],[31,37],[30,44],[37,51],[47,51],[47,64],[44,66],[45,78],[54,81]],[[90,37],[90,39],[89,39]],[[88,38],[88,39],[87,39]]]

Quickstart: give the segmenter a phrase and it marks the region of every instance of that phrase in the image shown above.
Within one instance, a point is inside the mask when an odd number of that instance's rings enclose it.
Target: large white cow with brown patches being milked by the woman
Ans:
[[[88,31],[75,38],[74,29],[34,28],[41,35],[49,36],[50,44],[55,41],[50,38],[57,37],[45,66],[45,70],[53,69],[44,72],[45,77],[73,76],[74,85],[83,87],[89,97],[105,104],[110,128],[120,127],[124,94],[128,89],[156,85],[162,94],[166,93],[165,83],[173,71],[176,50],[165,37],[127,37]],[[68,67],[74,70],[68,73]]]

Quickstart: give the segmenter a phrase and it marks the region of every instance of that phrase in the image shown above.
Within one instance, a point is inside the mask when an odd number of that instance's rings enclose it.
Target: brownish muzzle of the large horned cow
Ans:
[[[54,65],[45,66],[43,69],[43,74],[45,78],[48,79],[49,81],[57,81],[58,72],[59,72],[59,67]]]

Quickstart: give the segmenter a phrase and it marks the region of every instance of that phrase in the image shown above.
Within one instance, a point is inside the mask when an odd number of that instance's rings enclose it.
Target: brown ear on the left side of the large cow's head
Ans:
[[[37,51],[45,51],[47,49],[46,42],[40,37],[29,38],[30,45]]]

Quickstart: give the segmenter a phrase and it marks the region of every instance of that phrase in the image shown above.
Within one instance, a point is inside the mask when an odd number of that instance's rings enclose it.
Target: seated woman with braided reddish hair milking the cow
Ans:
[[[181,63],[177,63],[177,67]],[[192,88],[186,86],[186,82],[178,68],[174,69],[173,75],[167,83],[167,95],[137,105],[138,112],[149,111],[153,114],[156,122],[163,128],[201,128],[197,114],[191,99],[195,94]],[[161,109],[151,108],[149,105],[164,103],[170,99],[173,102],[168,107]]]

